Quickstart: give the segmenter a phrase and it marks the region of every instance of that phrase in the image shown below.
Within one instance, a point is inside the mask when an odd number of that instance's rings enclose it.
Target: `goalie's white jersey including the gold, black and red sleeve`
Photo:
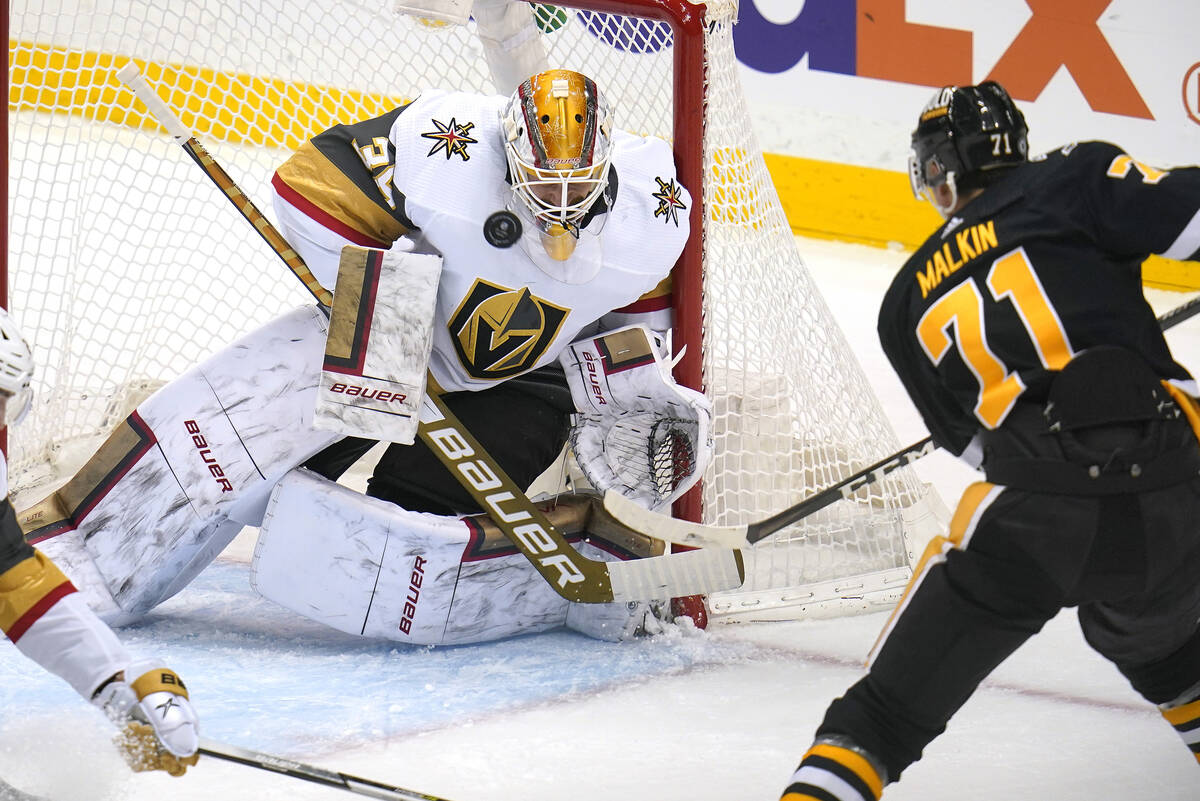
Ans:
[[[688,239],[691,198],[670,146],[617,131],[607,211],[584,223],[569,259],[552,260],[511,210],[504,102],[426,92],[314,137],[272,181],[284,235],[326,287],[347,243],[389,248],[407,235],[443,257],[430,369],[448,391],[551,363],[664,284]]]

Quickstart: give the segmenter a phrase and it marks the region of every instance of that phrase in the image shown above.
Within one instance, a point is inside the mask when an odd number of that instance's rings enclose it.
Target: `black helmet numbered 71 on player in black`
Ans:
[[[912,132],[908,177],[912,193],[934,200],[931,189],[986,186],[998,170],[1028,157],[1025,115],[995,80],[943,86],[920,112]],[[936,201],[935,201],[936,205]]]

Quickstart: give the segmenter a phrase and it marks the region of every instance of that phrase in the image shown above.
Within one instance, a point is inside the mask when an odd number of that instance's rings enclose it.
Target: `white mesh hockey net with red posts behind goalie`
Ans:
[[[156,387],[310,300],[134,103],[121,66],[136,61],[268,212],[274,169],[330,125],[427,86],[512,89],[493,83],[474,20],[398,13],[391,0],[203,0],[186,16],[168,0],[8,7],[7,279],[37,362],[32,412],[11,433],[17,493],[70,476]],[[713,398],[716,453],[677,512],[754,522],[895,451],[751,132],[736,6],[518,7],[548,65],[593,77],[619,127],[672,141],[680,181],[703,200],[683,212],[694,234],[676,271],[676,347],[688,344],[682,380]],[[497,41],[515,52],[528,38]],[[889,603],[938,508],[908,471],[894,474],[760,543],[746,585],[710,610],[791,618]]]

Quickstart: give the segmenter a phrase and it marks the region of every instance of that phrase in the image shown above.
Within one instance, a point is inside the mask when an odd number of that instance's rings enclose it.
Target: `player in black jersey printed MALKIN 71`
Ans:
[[[942,89],[913,132],[913,191],[947,222],[888,289],[880,341],[934,440],[985,480],[785,801],[878,799],[1072,606],[1200,760],[1200,405],[1140,267],[1200,260],[1200,169],[1102,141],[1030,158],[1026,131],[986,82]]]

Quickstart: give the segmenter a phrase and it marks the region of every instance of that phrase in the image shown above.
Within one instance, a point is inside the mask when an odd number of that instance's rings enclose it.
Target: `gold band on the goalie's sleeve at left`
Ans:
[[[276,175],[323,212],[378,242],[390,245],[407,230],[364,194],[312,141],[300,145]]]

